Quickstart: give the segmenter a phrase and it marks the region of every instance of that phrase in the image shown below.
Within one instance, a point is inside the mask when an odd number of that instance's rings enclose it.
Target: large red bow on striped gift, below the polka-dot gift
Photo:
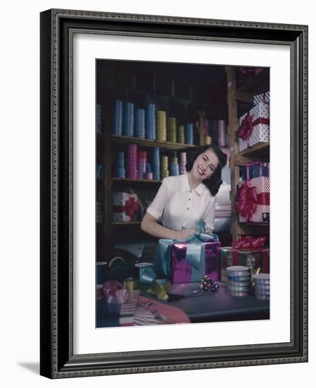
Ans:
[[[239,199],[236,202],[236,210],[246,222],[251,222],[257,205],[270,205],[270,193],[257,194],[251,181],[245,181],[239,188]]]

